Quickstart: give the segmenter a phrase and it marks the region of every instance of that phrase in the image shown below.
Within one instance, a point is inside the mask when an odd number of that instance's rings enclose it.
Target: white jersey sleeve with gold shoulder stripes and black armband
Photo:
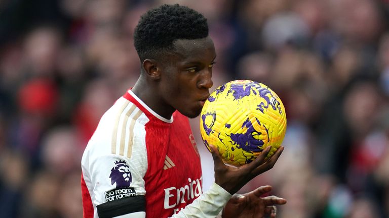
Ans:
[[[147,120],[124,98],[103,115],[82,158],[82,171],[94,217],[145,215]],[[141,216],[139,216],[141,214]]]

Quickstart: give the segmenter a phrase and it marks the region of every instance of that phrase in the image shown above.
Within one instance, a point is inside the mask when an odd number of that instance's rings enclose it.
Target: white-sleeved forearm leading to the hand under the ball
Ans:
[[[211,188],[200,195],[191,204],[180,210],[172,218],[215,218],[221,217],[221,210],[227,201],[231,198],[231,194],[218,186],[216,183],[211,185]]]

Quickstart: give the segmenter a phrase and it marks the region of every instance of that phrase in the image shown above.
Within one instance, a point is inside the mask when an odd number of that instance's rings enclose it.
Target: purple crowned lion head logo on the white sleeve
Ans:
[[[116,188],[119,187],[130,187],[132,182],[132,176],[130,172],[130,167],[127,165],[124,160],[116,160],[115,167],[111,169],[111,185],[116,183]]]

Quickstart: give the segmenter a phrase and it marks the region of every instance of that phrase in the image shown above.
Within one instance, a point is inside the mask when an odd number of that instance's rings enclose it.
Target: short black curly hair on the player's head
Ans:
[[[207,19],[185,6],[161,5],[143,14],[134,31],[134,45],[141,61],[158,58],[172,49],[176,39],[200,39],[208,36]]]

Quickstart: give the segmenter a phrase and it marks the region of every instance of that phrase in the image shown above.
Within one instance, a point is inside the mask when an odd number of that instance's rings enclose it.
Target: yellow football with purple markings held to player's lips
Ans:
[[[267,146],[267,157],[280,147],[286,132],[285,107],[278,95],[251,80],[227,82],[211,93],[200,119],[204,144],[218,149],[223,161],[242,166]]]

